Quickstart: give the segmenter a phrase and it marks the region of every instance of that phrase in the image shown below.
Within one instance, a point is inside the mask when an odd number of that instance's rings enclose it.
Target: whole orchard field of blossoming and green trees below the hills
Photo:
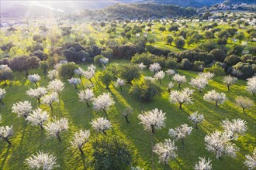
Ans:
[[[255,168],[255,14],[213,16],[1,27],[0,169]]]

